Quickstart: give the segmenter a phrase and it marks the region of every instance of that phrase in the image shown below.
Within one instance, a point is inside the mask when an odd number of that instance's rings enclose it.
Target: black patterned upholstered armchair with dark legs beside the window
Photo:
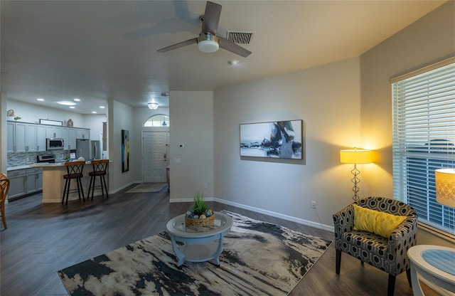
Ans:
[[[362,208],[357,208],[360,206]],[[382,234],[382,236],[370,231],[359,230],[357,225],[354,227],[354,218],[358,222],[356,214],[370,209],[381,212],[387,217],[387,214],[405,219],[397,221],[398,226],[393,226],[390,236]],[[368,210],[366,210],[368,211]],[[372,211],[370,211],[373,213]],[[374,212],[377,213],[377,212]],[[385,218],[390,221],[392,219]],[[343,210],[333,215],[333,223],[335,226],[335,247],[336,247],[336,274],[340,274],[341,268],[341,253],[347,253],[355,258],[358,258],[361,263],[368,263],[375,268],[385,271],[389,274],[387,295],[393,295],[395,290],[395,277],[403,271],[407,273],[407,280],[411,285],[410,280],[410,261],[407,258],[407,250],[416,244],[417,236],[417,212],[414,208],[406,203],[396,201],[394,199],[385,199],[384,197],[370,196],[365,199],[359,199],[351,203]],[[362,227],[360,227],[362,228]]]

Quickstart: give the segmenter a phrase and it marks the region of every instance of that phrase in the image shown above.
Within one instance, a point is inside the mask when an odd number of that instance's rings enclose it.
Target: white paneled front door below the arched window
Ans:
[[[168,132],[142,132],[144,183],[166,182]]]

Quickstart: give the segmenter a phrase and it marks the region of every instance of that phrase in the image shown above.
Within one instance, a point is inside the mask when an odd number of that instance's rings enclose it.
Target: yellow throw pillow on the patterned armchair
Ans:
[[[390,213],[370,210],[356,204],[354,206],[354,228],[368,231],[389,238],[390,233],[406,220],[406,216],[395,216]]]

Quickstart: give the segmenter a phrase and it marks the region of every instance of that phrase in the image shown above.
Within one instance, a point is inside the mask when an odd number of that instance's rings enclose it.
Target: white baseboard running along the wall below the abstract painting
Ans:
[[[280,218],[280,219],[283,219],[283,220],[292,221],[292,222],[303,224],[303,225],[306,225],[306,226],[319,228],[319,229],[321,229],[323,231],[330,231],[330,232],[333,232],[333,233],[335,232],[335,228],[333,226],[325,225],[325,224],[322,224],[322,223],[316,223],[316,222],[313,222],[313,221],[308,221],[308,220],[305,220],[305,219],[296,218],[296,217],[292,217],[292,216],[283,215],[282,213],[276,213],[276,212],[272,212],[272,211],[267,211],[267,210],[264,210],[262,208],[255,208],[253,206],[246,206],[246,205],[244,205],[242,203],[235,203],[235,202],[232,202],[232,201],[225,201],[224,199],[215,199],[214,197],[210,197],[210,198],[209,197],[205,197],[205,201],[216,201],[218,203],[224,203],[224,204],[227,204],[229,206],[236,206],[237,208],[244,208],[245,210],[248,210],[248,211],[253,211],[253,212],[256,212],[256,213],[263,213],[264,215],[267,215],[267,216],[272,216],[272,217],[275,217],[275,218]],[[188,203],[188,202],[193,202],[193,198],[171,199],[169,202],[171,202],[171,203]]]

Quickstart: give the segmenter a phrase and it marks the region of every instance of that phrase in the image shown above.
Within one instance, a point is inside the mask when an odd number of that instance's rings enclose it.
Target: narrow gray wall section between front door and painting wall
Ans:
[[[171,202],[193,201],[196,192],[213,199],[213,93],[171,91],[169,102]]]

